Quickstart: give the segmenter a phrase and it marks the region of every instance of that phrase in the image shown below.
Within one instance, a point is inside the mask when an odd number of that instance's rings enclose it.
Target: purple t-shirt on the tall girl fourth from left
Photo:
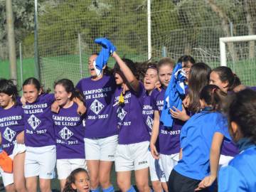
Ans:
[[[85,96],[85,138],[104,138],[118,134],[117,119],[113,108],[114,77],[103,76],[100,80],[84,78],[76,88]]]

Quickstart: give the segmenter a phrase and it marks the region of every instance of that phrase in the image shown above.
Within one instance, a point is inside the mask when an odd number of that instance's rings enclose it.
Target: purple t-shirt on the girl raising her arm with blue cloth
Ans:
[[[122,87],[114,92],[114,103],[119,101]],[[117,127],[119,128],[119,144],[136,144],[149,141],[149,132],[142,117],[144,103],[144,86],[139,83],[139,92],[129,90],[124,94],[124,104],[115,105]]]

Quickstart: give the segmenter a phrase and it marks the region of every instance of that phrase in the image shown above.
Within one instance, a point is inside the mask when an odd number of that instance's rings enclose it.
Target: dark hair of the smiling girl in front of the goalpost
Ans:
[[[228,82],[228,91],[233,91],[235,87],[241,85],[241,81],[232,70],[225,66],[220,66],[213,69],[215,73],[218,73],[221,82]]]

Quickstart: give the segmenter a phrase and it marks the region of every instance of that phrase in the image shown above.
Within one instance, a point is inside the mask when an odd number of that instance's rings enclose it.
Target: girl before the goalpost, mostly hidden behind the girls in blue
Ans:
[[[212,70],[210,73],[210,84],[217,85],[220,87],[220,90],[228,93],[238,92],[241,89],[245,89],[245,86],[241,85],[238,76],[235,75],[230,68],[225,66],[221,66]],[[223,166],[228,164],[228,162],[238,153],[238,146],[236,146],[234,142],[230,142],[228,139],[224,139],[220,152],[219,165]]]

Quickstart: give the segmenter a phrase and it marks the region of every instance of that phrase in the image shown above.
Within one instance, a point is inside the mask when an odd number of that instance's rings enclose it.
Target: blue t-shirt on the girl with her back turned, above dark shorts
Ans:
[[[225,119],[219,112],[203,110],[194,114],[181,129],[182,159],[174,170],[202,180],[210,173],[210,147],[215,132],[225,134]]]

